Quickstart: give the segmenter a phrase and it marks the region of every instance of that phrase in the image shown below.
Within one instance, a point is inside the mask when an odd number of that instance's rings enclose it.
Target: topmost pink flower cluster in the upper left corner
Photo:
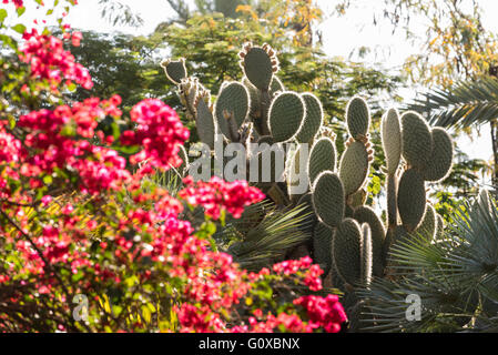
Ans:
[[[24,44],[21,47],[21,60],[30,64],[31,75],[47,80],[53,91],[65,80],[73,81],[84,89],[93,87],[87,68],[74,61],[74,55],[63,48],[63,42],[48,34],[39,34],[35,29],[24,32]]]

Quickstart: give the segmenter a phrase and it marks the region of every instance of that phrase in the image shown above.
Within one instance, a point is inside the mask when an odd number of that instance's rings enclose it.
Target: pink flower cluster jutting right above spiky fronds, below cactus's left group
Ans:
[[[190,205],[200,205],[205,214],[214,220],[220,219],[222,210],[226,210],[238,219],[244,207],[264,200],[265,195],[256,187],[248,185],[246,181],[237,180],[225,182],[217,176],[209,182],[194,183],[191,176],[183,181],[187,187],[179,193]]]

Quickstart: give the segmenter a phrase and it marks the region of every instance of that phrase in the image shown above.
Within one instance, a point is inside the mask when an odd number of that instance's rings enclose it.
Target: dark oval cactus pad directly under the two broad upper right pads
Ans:
[[[402,175],[398,187],[398,211],[408,232],[415,231],[426,211],[426,187],[424,179],[415,169]]]

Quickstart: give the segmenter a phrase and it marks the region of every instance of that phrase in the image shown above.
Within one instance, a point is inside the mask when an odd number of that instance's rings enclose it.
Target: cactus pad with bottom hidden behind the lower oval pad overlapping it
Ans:
[[[337,152],[334,142],[326,136],[321,138],[313,144],[309,152],[308,174],[309,183],[313,184],[316,176],[323,171],[335,171]]]

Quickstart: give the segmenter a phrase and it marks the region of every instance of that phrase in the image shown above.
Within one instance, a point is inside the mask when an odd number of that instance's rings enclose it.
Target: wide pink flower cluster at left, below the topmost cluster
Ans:
[[[24,176],[69,169],[79,173],[82,192],[98,194],[101,190],[118,190],[131,178],[126,161],[116,151],[94,146],[85,139],[102,134],[95,132],[100,120],[122,114],[118,109],[120,103],[119,97],[92,98],[72,106],[22,115],[18,126],[28,132],[24,145],[31,151],[22,166]]]

